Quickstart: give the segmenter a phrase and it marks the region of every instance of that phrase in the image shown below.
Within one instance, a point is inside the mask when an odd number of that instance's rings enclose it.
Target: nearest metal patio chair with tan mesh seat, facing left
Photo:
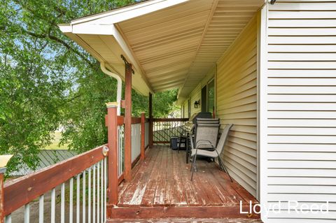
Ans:
[[[225,168],[224,162],[221,159],[221,153],[224,150],[224,146],[226,141],[228,140],[228,135],[230,132],[230,129],[232,128],[233,124],[227,124],[225,125],[221,138],[218,141],[218,145],[215,147],[214,144],[209,143],[209,141],[195,141],[195,149],[191,150],[191,157],[193,158],[193,164],[191,166],[191,180],[193,180],[193,175],[194,172],[197,170],[197,166],[196,166],[196,159],[197,156],[202,156],[202,157],[211,157],[211,158],[218,158],[218,164],[221,168],[221,170],[225,171],[226,173],[228,173],[230,180],[232,182],[232,178],[230,176],[230,173],[228,172],[228,170]],[[193,143],[193,141],[191,141]],[[205,146],[207,148],[214,148],[213,151],[209,151],[209,150],[202,150],[200,149],[200,146]]]

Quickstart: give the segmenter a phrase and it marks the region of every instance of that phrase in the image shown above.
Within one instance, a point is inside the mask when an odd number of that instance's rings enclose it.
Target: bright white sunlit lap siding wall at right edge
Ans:
[[[276,1],[267,20],[267,201],[330,201],[323,213],[268,222],[336,220],[336,2]],[[331,221],[330,221],[331,220]]]

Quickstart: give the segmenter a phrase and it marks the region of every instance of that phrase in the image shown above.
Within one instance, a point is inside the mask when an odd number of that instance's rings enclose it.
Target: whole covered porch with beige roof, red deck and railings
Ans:
[[[29,203],[39,197],[43,207],[43,194],[50,191],[52,222],[56,222],[59,186],[60,222],[64,222],[68,182],[69,222],[258,221],[260,215],[249,212],[249,202],[258,203],[257,23],[264,3],[153,0],[60,25],[66,36],[101,63],[104,73],[117,77],[120,86],[125,81],[125,100],[118,93],[116,102],[107,104],[108,144],[5,185],[3,215],[8,222],[22,206],[29,222]],[[221,154],[233,182],[216,162],[205,160],[198,161],[191,181],[186,152],[167,147],[171,136],[181,134],[184,122],[201,111],[192,105],[205,103],[201,87],[204,81],[208,86],[211,78],[216,90],[214,103],[207,108],[221,118],[221,124],[235,124],[226,147],[234,150]],[[132,117],[132,88],[148,96],[148,117],[144,113]],[[176,88],[183,118],[154,118],[152,94]],[[120,108],[125,108],[124,116]],[[43,210],[41,215],[43,222]]]

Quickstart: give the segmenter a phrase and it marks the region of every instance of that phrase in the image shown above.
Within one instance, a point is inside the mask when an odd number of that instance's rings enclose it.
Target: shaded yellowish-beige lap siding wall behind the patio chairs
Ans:
[[[232,178],[256,196],[257,24],[249,22],[217,64],[217,115],[232,123],[223,158]]]

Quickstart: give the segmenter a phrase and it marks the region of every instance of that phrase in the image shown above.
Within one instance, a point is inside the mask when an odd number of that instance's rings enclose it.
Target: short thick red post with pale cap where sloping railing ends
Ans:
[[[118,116],[117,103],[107,103],[107,138],[109,147],[109,204],[118,203]]]

